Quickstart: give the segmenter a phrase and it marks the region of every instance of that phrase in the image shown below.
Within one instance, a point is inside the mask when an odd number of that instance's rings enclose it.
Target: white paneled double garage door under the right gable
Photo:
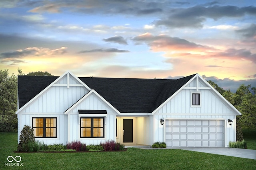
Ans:
[[[223,120],[166,120],[167,147],[224,147]]]

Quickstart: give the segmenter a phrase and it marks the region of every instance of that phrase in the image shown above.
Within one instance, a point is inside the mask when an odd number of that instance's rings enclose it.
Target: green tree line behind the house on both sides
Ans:
[[[18,75],[25,75],[18,68]],[[30,72],[25,76],[53,76],[48,72]],[[242,128],[256,127],[256,88],[251,85],[240,85],[235,93],[224,90],[211,80],[208,81],[228,102],[238,109],[242,116],[237,122]],[[17,88],[18,77],[9,76],[8,70],[0,70],[0,132],[17,131]]]

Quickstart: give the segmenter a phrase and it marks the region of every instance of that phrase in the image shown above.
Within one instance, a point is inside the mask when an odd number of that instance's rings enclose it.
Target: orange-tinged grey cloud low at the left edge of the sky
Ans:
[[[0,54],[0,59],[10,59],[10,58],[22,58],[28,55],[42,56],[42,55],[60,55],[66,53],[66,47],[61,47],[59,49],[48,49],[48,48],[38,48],[38,47],[28,47],[26,49],[19,49],[12,52],[5,52]]]

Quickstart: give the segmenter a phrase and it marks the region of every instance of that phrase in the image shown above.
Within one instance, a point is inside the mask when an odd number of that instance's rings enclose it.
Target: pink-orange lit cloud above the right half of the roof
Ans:
[[[171,51],[171,50],[209,50],[210,47],[196,44],[185,39],[180,39],[178,37],[170,37],[168,35],[152,35],[151,33],[144,33],[133,37],[132,40],[136,43],[146,43],[155,51]]]

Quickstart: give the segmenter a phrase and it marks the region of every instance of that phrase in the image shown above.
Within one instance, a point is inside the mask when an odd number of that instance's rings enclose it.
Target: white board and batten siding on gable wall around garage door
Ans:
[[[200,106],[192,106],[193,92],[200,93]],[[154,113],[154,142],[165,140],[165,125],[160,125],[160,119],[224,120],[224,146],[227,147],[229,141],[236,141],[234,111],[205,82],[196,78]],[[232,126],[228,125],[228,119],[233,120]]]

